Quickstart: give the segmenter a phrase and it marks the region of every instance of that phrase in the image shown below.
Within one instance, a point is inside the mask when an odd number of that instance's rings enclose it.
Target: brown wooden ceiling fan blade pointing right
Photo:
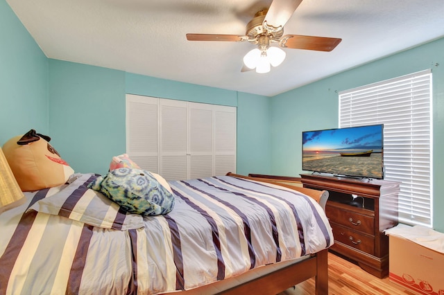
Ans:
[[[332,51],[341,41],[340,38],[284,35],[279,43],[284,48]]]

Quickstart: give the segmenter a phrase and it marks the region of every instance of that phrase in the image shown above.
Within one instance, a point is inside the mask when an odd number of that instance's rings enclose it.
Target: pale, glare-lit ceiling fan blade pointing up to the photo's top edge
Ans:
[[[302,0],[273,0],[264,19],[267,30],[281,30]]]

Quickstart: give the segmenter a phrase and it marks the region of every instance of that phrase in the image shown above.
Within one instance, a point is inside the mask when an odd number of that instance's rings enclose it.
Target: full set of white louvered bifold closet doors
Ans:
[[[126,95],[126,151],[167,180],[236,172],[237,109]]]

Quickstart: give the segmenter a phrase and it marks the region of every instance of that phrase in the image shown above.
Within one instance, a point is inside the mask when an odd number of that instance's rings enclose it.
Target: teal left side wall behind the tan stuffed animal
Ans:
[[[29,129],[48,134],[48,60],[0,0],[0,146]]]

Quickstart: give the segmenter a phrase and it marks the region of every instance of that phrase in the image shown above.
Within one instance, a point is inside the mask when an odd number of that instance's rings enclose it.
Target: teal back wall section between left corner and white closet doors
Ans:
[[[126,150],[125,72],[49,60],[49,134],[76,172],[107,172]]]

